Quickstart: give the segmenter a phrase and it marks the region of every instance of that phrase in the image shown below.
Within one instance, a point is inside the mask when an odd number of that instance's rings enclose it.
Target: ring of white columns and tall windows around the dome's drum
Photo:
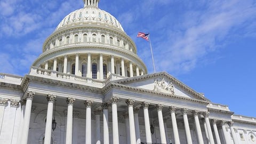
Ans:
[[[85,60],[86,55],[87,61]],[[138,65],[124,58],[115,57],[114,55],[110,55],[110,58],[103,58],[102,53],[98,55],[86,53],[86,55],[77,53],[73,58],[74,61],[68,61],[68,55],[64,55],[64,58],[61,58],[60,61],[54,58],[53,62],[45,61],[44,68],[94,79],[106,79],[107,75],[110,74],[133,77],[144,73],[144,70],[139,68]]]

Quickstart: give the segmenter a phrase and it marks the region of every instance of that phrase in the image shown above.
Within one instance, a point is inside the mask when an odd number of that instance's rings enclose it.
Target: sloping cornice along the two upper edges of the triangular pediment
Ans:
[[[148,79],[148,78],[155,78],[155,77],[159,77],[159,76],[162,76],[162,77],[164,76],[165,78],[170,79],[173,83],[175,83],[178,86],[182,87],[183,90],[188,91],[190,94],[193,94],[196,98],[198,98],[200,100],[203,100],[203,101],[210,102],[210,100],[206,99],[201,94],[197,93],[196,91],[194,91],[193,89],[191,89],[187,85],[183,84],[178,79],[176,79],[176,78],[172,77],[171,75],[167,74],[166,72],[147,74],[147,75],[136,76],[136,77],[131,77],[131,78],[124,78],[124,79],[116,80],[115,82],[118,83],[118,84],[125,84],[125,83],[142,81],[142,80]]]

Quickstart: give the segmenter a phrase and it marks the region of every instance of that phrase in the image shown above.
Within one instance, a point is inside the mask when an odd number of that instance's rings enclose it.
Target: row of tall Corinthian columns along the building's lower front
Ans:
[[[28,130],[29,130],[29,121],[30,121],[30,114],[31,114],[31,103],[33,100],[33,97],[35,95],[35,92],[28,92],[26,94],[26,110],[25,110],[25,116],[24,116],[24,122],[23,122],[23,133],[22,133],[22,140],[21,143],[25,144],[28,141]],[[52,122],[52,113],[53,113],[53,101],[55,99],[55,95],[48,94],[46,99],[48,101],[48,107],[47,107],[47,118],[46,118],[46,127],[45,127],[45,144],[51,142],[51,122]],[[68,97],[66,99],[67,105],[68,105],[68,110],[67,110],[67,129],[66,129],[66,144],[71,144],[72,143],[72,126],[73,126],[73,104],[75,102],[75,98]],[[104,102],[101,105],[102,111],[103,111],[103,143],[108,144],[109,143],[109,122],[108,122],[108,109],[111,107],[112,111],[112,119],[113,119],[113,143],[114,144],[119,144],[119,132],[118,132],[118,116],[117,116],[117,102],[119,101],[118,97],[111,97],[109,102]],[[143,101],[141,102],[141,107],[133,107],[134,105],[134,100],[132,99],[126,99],[126,104],[128,107],[128,113],[127,116],[125,117],[126,121],[126,141],[128,143],[140,143],[140,127],[139,127],[139,117],[138,117],[138,112],[142,108],[143,109],[143,114],[144,114],[144,122],[145,122],[145,133],[146,133],[146,142],[147,143],[152,143],[152,138],[151,138],[151,133],[150,133],[150,120],[149,120],[149,102]],[[93,101],[91,100],[85,100],[84,105],[86,107],[86,144],[91,144],[92,143],[92,134],[91,134],[91,107],[92,107]],[[161,143],[167,143],[166,141],[166,128],[164,126],[164,121],[163,121],[163,114],[162,114],[162,109],[164,105],[162,104],[157,104],[155,106],[157,110],[157,115],[158,115],[158,123],[159,123],[159,133],[160,133],[160,138],[161,138]],[[189,127],[189,122],[188,122],[188,116],[187,113],[188,111],[192,111],[194,115],[194,121],[195,121],[195,128],[196,128],[196,135],[197,135],[197,143],[203,144],[203,134],[201,131],[201,124],[198,118],[198,115],[203,113],[204,115],[204,129],[206,133],[206,139],[209,140],[208,142],[210,144],[213,144],[214,142],[217,142],[218,144],[221,143],[220,141],[220,136],[218,133],[218,128],[217,128],[217,119],[209,119],[209,111],[198,111],[198,110],[191,110],[188,108],[179,108],[181,110],[181,113],[183,115],[183,121],[184,121],[184,126],[185,126],[185,133],[186,133],[186,140],[187,143],[193,143],[192,138],[191,138],[191,133],[190,133],[190,127]],[[173,128],[173,135],[174,135],[174,142],[175,144],[180,143],[180,137],[179,137],[179,131],[178,131],[178,126],[177,126],[177,121],[175,117],[175,112],[177,111],[177,107],[170,106],[169,107],[170,114],[171,114],[171,123],[172,123],[172,128]],[[100,143],[100,111],[99,109],[94,110],[95,114],[95,123],[97,123],[97,126],[95,127],[95,138],[97,139],[97,143]],[[226,121],[221,121],[222,124],[222,132],[224,135],[224,139],[226,143],[230,143],[231,139],[228,137],[228,134],[226,132]],[[211,130],[211,124],[213,126],[213,131],[215,134],[215,140],[213,138],[213,133]],[[231,133],[233,135],[233,140],[235,144],[238,144],[238,140],[236,138],[236,134],[234,131],[233,127],[233,122],[229,122]]]

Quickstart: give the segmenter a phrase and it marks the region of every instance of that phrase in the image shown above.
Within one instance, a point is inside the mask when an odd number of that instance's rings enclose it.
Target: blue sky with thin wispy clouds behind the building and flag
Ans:
[[[24,76],[42,45],[82,0],[1,0],[0,73]],[[256,117],[256,1],[118,1],[99,7],[121,22],[153,73],[166,71],[235,114]]]

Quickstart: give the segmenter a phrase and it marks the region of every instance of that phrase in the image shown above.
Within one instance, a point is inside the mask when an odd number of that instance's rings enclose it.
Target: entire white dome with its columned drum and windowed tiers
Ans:
[[[98,8],[99,0],[83,0],[83,9],[69,13],[46,38],[33,67],[102,81],[110,74],[147,74],[137,47],[113,15]]]

